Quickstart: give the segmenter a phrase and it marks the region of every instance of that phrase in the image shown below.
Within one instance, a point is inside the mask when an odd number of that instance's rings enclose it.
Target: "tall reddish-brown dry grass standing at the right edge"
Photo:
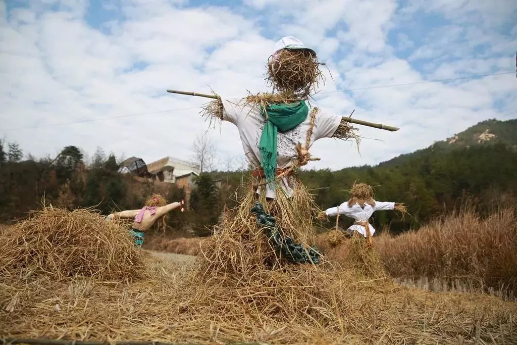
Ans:
[[[464,279],[517,295],[517,219],[509,207],[482,219],[473,209],[436,219],[417,232],[376,237],[393,277]]]

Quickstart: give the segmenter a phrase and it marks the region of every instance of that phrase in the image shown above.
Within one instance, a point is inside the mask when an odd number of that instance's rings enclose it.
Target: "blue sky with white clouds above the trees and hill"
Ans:
[[[196,136],[208,135],[221,165],[238,162],[237,129],[206,132],[204,100],[165,89],[267,91],[264,66],[283,36],[327,63],[319,107],[401,127],[359,127],[360,154],[353,143],[318,141],[311,151],[322,160],[310,168],[375,164],[487,118],[517,117],[515,74],[420,83],[514,71],[512,0],[8,1],[0,136],[36,156],[77,145],[152,161],[189,159]],[[377,87],[403,83],[417,84]]]

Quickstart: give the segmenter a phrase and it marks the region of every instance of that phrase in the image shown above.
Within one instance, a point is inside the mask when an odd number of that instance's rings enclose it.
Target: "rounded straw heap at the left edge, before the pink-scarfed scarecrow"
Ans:
[[[127,230],[88,209],[44,207],[3,234],[0,275],[89,276],[126,279],[140,276],[142,254]]]

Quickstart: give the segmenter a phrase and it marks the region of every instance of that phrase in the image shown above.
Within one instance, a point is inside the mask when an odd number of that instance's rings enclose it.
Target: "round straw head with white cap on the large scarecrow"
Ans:
[[[279,92],[295,98],[308,98],[323,73],[316,52],[293,36],[275,44],[267,63],[267,81]]]

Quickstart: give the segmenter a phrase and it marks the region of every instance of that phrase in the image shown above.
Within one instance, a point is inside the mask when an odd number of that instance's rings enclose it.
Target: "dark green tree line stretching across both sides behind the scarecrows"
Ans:
[[[203,149],[213,154],[209,148]],[[199,152],[196,154],[199,156]],[[206,172],[207,162],[212,159],[203,157],[205,171],[192,191],[190,212],[169,217],[169,227],[178,233],[209,235],[223,209],[236,205],[235,194],[246,182],[249,168]],[[120,160],[100,148],[91,159],[85,159],[75,146],[64,147],[56,157],[36,159],[28,155],[24,159],[17,143],[0,141],[0,222],[23,217],[29,210],[39,208],[43,200],[69,209],[94,207],[108,214],[140,208],[145,198],[155,192],[169,202],[184,198],[185,191],[175,185],[119,173]],[[454,150],[430,147],[374,167],[301,170],[299,176],[321,209],[347,200],[348,189],[355,181],[374,186],[376,200],[405,203],[409,216],[404,220],[392,212],[379,212],[372,220],[379,230],[389,226],[390,231],[399,233],[460,207],[465,198],[476,198],[480,211],[500,206],[508,200],[504,198],[517,191],[517,154],[504,143]],[[220,188],[216,180],[221,181]],[[350,223],[340,218],[341,227]],[[323,228],[333,226],[318,224]]]

